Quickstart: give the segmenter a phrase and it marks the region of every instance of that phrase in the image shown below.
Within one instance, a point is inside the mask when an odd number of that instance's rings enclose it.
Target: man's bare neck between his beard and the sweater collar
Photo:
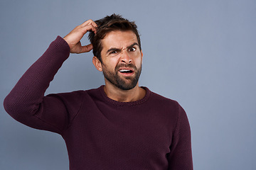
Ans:
[[[111,98],[114,101],[120,102],[131,102],[131,101],[138,101],[146,95],[146,91],[139,87],[137,84],[133,89],[130,90],[122,90],[119,89],[117,86],[113,84],[108,84],[104,86],[105,94],[107,97]]]

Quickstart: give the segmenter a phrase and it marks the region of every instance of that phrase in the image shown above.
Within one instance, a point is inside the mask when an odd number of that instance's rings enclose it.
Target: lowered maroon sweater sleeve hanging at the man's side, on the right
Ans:
[[[178,104],[178,103],[177,103]],[[170,170],[193,170],[191,129],[186,112],[178,104],[178,120],[172,137],[169,154]]]

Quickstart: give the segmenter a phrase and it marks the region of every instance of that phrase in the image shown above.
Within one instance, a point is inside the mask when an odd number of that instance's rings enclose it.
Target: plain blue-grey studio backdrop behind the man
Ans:
[[[256,1],[1,0],[0,103],[57,35],[112,13],[139,27],[140,86],[185,108],[194,169],[256,169]],[[47,94],[101,84],[92,52],[71,55]],[[0,113],[0,169],[68,169],[60,135]]]

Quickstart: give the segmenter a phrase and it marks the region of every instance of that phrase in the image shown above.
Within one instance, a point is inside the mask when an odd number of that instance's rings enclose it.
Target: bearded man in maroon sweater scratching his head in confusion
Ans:
[[[81,45],[90,32],[92,44]],[[70,52],[92,50],[105,86],[44,96]],[[32,128],[62,135],[70,169],[193,169],[191,132],[176,101],[138,84],[142,47],[134,22],[113,14],[56,38],[5,98]]]

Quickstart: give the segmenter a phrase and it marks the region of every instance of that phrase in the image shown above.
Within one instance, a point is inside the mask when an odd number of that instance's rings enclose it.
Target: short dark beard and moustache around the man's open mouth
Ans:
[[[137,85],[139,76],[142,72],[142,64],[140,65],[139,69],[134,64],[118,64],[117,67],[114,68],[114,72],[107,70],[104,64],[102,64],[102,66],[102,72],[105,79],[122,90],[133,89]],[[129,67],[134,69],[134,77],[120,77],[118,74],[120,67]]]

